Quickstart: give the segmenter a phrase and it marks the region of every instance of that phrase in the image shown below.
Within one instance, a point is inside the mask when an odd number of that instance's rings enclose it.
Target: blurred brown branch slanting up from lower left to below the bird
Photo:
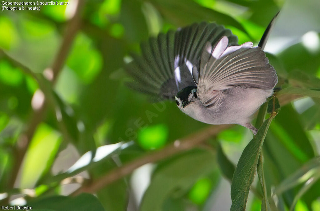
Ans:
[[[106,175],[100,177],[96,181],[93,181],[91,184],[82,186],[80,189],[73,192],[72,195],[78,195],[82,192],[95,193],[102,187],[130,174],[133,170],[144,164],[157,162],[159,160],[173,156],[177,153],[192,149],[201,142],[208,140],[210,137],[217,135],[220,131],[223,131],[229,127],[231,127],[231,125],[229,124],[210,126],[186,138],[176,140],[172,144],[161,150],[151,152],[145,156],[137,158],[136,160],[124,166],[111,170]]]

